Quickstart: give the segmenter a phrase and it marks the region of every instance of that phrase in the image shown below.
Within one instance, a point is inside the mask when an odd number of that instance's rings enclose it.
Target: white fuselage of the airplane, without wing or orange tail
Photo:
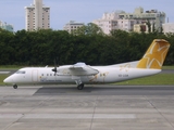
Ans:
[[[80,79],[83,83],[111,83],[134,78],[154,75],[161,69],[142,69],[119,66],[91,66],[99,73],[90,76],[72,76],[66,66],[58,67],[58,73],[52,72],[53,67],[28,67],[22,68],[4,79],[5,83],[75,83]]]

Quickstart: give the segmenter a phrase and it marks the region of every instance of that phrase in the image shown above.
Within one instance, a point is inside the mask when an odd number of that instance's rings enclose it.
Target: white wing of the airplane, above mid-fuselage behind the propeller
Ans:
[[[77,63],[70,66],[70,73],[72,76],[91,76],[96,75],[99,72],[85,63]]]

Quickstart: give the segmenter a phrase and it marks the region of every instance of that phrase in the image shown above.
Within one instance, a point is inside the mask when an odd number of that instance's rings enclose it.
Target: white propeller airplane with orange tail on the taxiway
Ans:
[[[13,84],[14,89],[17,89],[17,84],[76,83],[77,89],[83,90],[85,83],[112,83],[158,74],[169,49],[166,40],[154,39],[139,61],[107,66],[90,66],[79,62],[59,67],[25,67],[3,82]]]

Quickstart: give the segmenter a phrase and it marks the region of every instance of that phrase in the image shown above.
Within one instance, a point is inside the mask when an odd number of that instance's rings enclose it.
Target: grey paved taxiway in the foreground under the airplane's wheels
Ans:
[[[0,87],[1,130],[173,130],[174,86]]]

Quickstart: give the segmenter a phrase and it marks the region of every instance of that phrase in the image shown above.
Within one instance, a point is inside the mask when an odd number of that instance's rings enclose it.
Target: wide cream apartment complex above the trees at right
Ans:
[[[162,24],[165,23],[165,13],[157,10],[144,12],[142,8],[135,9],[134,13],[126,13],[124,11],[115,11],[112,13],[104,13],[102,18],[95,20],[92,23],[97,24],[104,34],[110,34],[111,30],[122,29],[133,31],[134,25],[142,25],[149,22],[154,25],[156,30],[161,31]]]

